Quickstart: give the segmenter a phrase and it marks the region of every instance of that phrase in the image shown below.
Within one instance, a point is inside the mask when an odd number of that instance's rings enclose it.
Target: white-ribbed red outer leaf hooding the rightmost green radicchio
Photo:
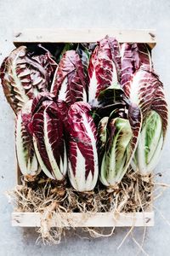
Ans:
[[[129,84],[128,119],[133,129],[133,147],[139,139],[144,120],[151,110],[160,114],[162,119],[163,135],[167,131],[167,102],[163,91],[163,85],[150,65],[142,65],[133,74]]]

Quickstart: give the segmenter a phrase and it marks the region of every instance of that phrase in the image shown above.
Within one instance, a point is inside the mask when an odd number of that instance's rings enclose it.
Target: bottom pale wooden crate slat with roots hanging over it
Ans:
[[[20,227],[39,227],[42,215],[38,212],[13,212],[12,225]],[[59,213],[50,220],[51,227],[130,227],[153,226],[154,212],[130,213]]]

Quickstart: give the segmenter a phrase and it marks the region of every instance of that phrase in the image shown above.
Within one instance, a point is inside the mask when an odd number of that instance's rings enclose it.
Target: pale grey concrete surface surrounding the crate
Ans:
[[[156,28],[157,45],[153,61],[169,99],[170,95],[170,1],[168,0],[0,0],[0,62],[14,49],[14,29],[46,28]],[[155,172],[161,172],[158,182],[170,183],[170,135]],[[155,202],[156,224],[146,230],[144,252],[128,236],[117,250],[129,228],[117,228],[111,237],[80,238],[81,230],[69,233],[58,246],[36,245],[34,229],[11,227],[13,207],[5,191],[14,188],[14,114],[0,87],[0,256],[23,255],[170,255],[170,190]],[[162,217],[162,215],[164,217]],[[165,220],[166,219],[166,220]],[[133,230],[141,244],[144,228]],[[82,235],[83,236],[83,235]]]

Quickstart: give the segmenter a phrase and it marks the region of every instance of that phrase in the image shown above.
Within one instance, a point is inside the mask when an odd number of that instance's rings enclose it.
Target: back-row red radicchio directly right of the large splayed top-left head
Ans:
[[[51,92],[69,106],[74,102],[87,102],[87,84],[84,66],[75,50],[67,50],[59,62]]]

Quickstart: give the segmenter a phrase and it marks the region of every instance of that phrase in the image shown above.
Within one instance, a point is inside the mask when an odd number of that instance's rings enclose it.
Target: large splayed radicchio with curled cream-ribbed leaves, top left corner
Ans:
[[[57,64],[48,50],[44,51],[37,55],[26,46],[20,46],[3,61],[0,77],[4,94],[14,113],[39,92],[49,90]]]

